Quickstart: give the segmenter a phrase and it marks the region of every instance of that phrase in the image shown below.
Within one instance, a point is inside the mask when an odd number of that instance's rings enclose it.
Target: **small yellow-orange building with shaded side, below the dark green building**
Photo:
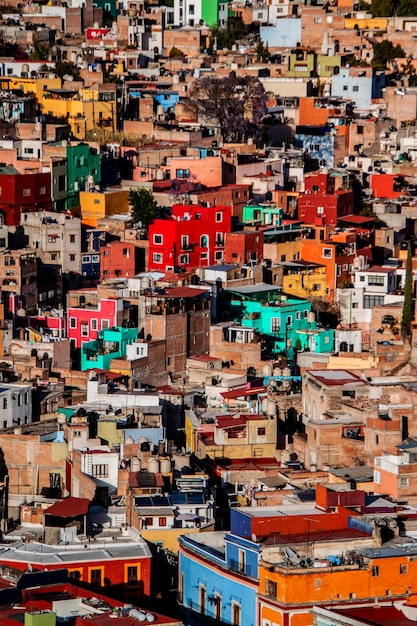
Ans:
[[[129,212],[129,191],[80,191],[80,205],[82,223],[96,228],[103,217]]]

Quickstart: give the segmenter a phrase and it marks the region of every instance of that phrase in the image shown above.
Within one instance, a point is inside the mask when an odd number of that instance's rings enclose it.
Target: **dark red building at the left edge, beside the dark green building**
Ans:
[[[0,168],[0,212],[7,226],[18,226],[26,211],[52,209],[51,174],[20,174],[14,167]]]

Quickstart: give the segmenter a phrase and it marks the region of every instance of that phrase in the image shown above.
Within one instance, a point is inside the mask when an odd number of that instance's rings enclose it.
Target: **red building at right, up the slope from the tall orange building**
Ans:
[[[339,218],[353,213],[353,192],[335,190],[335,179],[329,174],[311,174],[304,182],[298,218],[305,224],[336,224]]]

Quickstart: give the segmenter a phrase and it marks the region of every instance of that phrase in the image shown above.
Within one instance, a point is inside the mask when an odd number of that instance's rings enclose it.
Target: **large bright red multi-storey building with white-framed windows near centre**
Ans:
[[[156,219],[149,227],[148,270],[222,263],[231,214],[230,206],[174,205],[172,217]]]

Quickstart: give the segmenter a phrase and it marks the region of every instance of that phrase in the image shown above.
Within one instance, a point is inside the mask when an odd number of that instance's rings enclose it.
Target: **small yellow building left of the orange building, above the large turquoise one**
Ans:
[[[282,289],[284,293],[299,298],[326,297],[326,268],[308,261],[284,264]]]

